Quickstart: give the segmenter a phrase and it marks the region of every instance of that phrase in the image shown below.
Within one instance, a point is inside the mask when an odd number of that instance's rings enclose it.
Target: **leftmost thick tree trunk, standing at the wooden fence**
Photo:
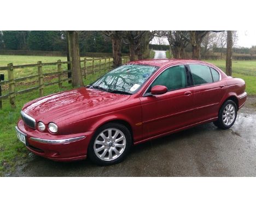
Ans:
[[[78,32],[68,31],[67,38],[69,38],[68,41],[70,42],[69,54],[71,56],[72,86],[75,88],[82,87],[84,85],[84,82],[80,65]]]

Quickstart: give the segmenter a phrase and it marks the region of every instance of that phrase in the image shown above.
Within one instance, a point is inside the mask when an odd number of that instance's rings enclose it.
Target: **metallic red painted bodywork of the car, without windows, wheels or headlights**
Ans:
[[[133,143],[138,144],[172,132],[217,120],[220,106],[232,97],[241,108],[246,101],[245,82],[228,77],[212,64],[196,60],[155,59],[129,64],[159,66],[159,69],[133,95],[108,93],[97,89],[78,88],[28,102],[26,114],[44,124],[54,122],[56,134],[34,130],[19,120],[19,129],[27,134],[28,146],[37,155],[56,161],[80,160],[86,157],[90,139],[101,125],[109,121],[121,122],[131,130]],[[162,70],[178,64],[203,64],[220,72],[218,82],[167,91],[162,95],[143,96],[150,83]],[[86,136],[68,144],[44,144],[30,137],[66,139]]]

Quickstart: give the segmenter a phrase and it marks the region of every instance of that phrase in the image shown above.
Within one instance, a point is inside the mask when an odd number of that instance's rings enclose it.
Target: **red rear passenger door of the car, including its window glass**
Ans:
[[[220,73],[207,65],[189,64],[194,85],[195,122],[218,117],[219,102],[225,93]]]

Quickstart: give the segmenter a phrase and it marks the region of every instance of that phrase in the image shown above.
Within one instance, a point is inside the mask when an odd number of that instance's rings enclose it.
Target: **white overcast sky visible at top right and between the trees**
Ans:
[[[238,40],[236,43],[236,47],[252,47],[256,45],[256,30],[238,30],[237,31]],[[168,41],[166,38],[162,39],[166,45],[168,45]],[[153,39],[152,44],[158,44],[156,39]]]

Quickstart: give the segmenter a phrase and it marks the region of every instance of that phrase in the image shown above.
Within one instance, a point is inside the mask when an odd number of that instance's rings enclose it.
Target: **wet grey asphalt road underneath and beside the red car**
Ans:
[[[125,161],[107,167],[30,154],[9,176],[256,176],[255,126],[256,97],[249,97],[229,130],[200,125],[137,145]]]

